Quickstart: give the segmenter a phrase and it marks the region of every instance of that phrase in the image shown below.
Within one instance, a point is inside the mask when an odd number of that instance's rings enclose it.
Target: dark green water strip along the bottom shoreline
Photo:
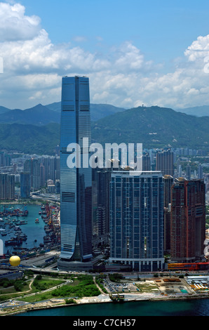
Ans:
[[[36,310],[18,316],[140,317],[209,316],[209,299],[187,301],[137,301],[123,304],[102,303]]]

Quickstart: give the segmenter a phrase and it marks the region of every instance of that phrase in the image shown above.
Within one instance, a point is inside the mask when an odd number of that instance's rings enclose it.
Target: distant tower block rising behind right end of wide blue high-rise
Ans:
[[[170,150],[163,150],[162,152],[157,152],[156,171],[161,171],[163,173],[163,176],[174,175],[173,152],[171,152]]]

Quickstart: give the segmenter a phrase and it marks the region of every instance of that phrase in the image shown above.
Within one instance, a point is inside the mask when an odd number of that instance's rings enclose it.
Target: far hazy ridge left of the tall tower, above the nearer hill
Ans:
[[[52,122],[60,123],[60,114],[49,110],[41,104],[26,110],[15,109],[4,112],[3,114],[0,112],[0,123],[32,124],[40,126]]]

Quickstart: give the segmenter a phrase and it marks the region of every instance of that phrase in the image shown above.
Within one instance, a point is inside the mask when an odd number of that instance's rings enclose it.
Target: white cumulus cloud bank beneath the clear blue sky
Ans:
[[[176,109],[209,104],[209,35],[188,46],[168,74],[161,74],[161,67],[147,61],[131,41],[103,54],[81,48],[79,42],[84,39],[76,37],[76,47],[70,42],[55,45],[39,17],[25,15],[20,4],[0,3],[0,58],[4,60],[0,105],[26,108],[58,102],[61,77],[68,74],[90,77],[93,103]]]

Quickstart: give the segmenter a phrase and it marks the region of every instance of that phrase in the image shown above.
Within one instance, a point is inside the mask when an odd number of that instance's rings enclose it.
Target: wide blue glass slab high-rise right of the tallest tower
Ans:
[[[163,176],[114,171],[110,183],[111,263],[138,271],[163,269]]]

